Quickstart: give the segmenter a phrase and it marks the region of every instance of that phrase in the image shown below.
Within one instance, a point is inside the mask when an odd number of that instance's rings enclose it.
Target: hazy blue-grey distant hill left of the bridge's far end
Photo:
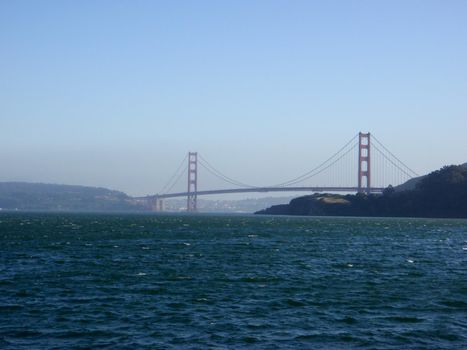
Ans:
[[[0,182],[0,208],[38,211],[143,211],[123,192],[100,187]]]

